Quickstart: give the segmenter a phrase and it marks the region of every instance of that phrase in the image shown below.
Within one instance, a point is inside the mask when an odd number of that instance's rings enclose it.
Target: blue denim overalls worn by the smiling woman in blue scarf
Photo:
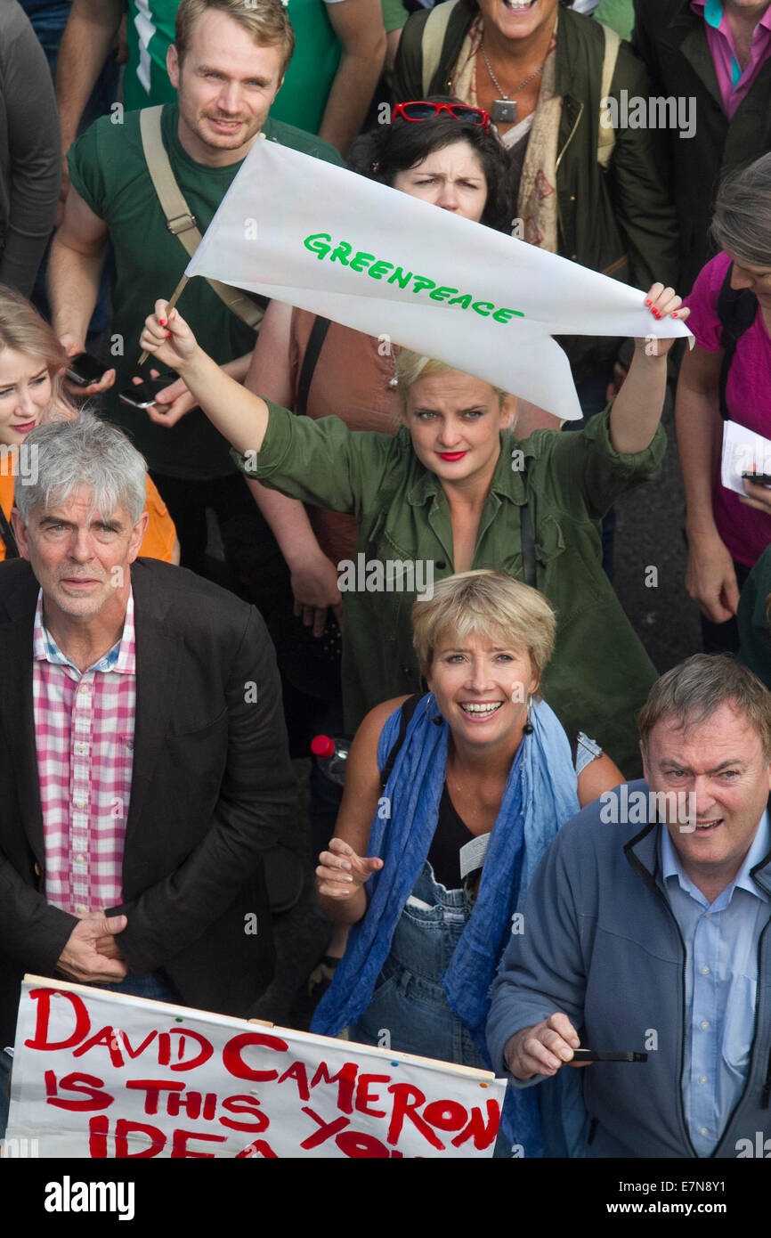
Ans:
[[[439,885],[426,860],[351,1040],[489,1070],[439,984],[470,914],[465,891]]]

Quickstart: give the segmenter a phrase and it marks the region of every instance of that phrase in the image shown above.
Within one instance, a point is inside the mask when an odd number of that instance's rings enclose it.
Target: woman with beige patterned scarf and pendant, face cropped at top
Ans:
[[[394,78],[395,102],[453,94],[490,113],[510,152],[514,235],[639,288],[655,277],[676,286],[662,135],[601,109],[621,90],[647,100],[645,68],[562,0],[444,0],[413,14]],[[599,411],[624,378],[620,340],[561,342],[584,413]]]

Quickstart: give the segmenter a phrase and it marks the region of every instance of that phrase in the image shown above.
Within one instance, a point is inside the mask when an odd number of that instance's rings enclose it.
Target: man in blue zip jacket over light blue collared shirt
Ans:
[[[771,693],[698,654],[653,685],[639,727],[646,780],[563,826],[533,878],[495,985],[493,1063],[530,1087],[582,1065],[579,1046],[600,1055],[572,1080],[588,1112],[574,1155],[754,1156],[759,1135],[764,1155]]]

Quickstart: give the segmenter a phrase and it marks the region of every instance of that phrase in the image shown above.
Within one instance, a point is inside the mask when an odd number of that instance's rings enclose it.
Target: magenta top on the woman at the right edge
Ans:
[[[699,271],[693,291],[684,301],[691,308],[688,327],[698,347],[707,353],[720,349],[718,295],[730,262],[728,254],[713,258]],[[771,338],[760,311],[736,344],[725,399],[731,421],[771,438]],[[733,558],[752,567],[771,542],[771,516],[747,508],[738,494],[720,484],[719,461],[713,484],[713,511],[718,532]]]

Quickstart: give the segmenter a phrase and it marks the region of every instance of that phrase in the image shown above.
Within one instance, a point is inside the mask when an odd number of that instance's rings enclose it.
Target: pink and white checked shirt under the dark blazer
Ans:
[[[46,900],[82,915],[123,901],[136,706],[134,594],[123,636],[80,671],[43,623],[32,634],[32,696],[46,844]]]

